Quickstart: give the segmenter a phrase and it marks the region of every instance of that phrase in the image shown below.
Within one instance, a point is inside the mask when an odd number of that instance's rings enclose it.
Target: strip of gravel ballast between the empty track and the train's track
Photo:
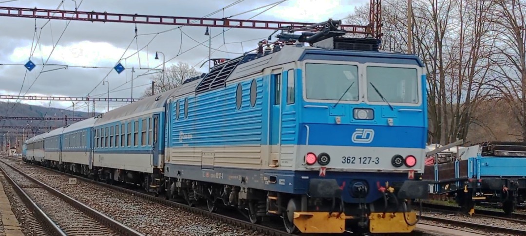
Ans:
[[[77,181],[76,184],[68,184],[69,177],[67,176],[22,162],[9,161],[8,163],[145,235],[265,235],[202,217],[181,208],[137,198],[94,183]]]

